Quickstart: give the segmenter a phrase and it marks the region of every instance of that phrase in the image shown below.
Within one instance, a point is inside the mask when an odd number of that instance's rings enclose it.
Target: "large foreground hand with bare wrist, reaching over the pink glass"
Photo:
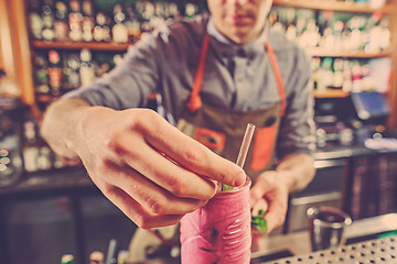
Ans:
[[[154,111],[116,111],[82,101],[51,107],[42,134],[61,155],[77,155],[103,194],[140,228],[174,224],[204,206],[221,184],[244,184],[240,167]]]

